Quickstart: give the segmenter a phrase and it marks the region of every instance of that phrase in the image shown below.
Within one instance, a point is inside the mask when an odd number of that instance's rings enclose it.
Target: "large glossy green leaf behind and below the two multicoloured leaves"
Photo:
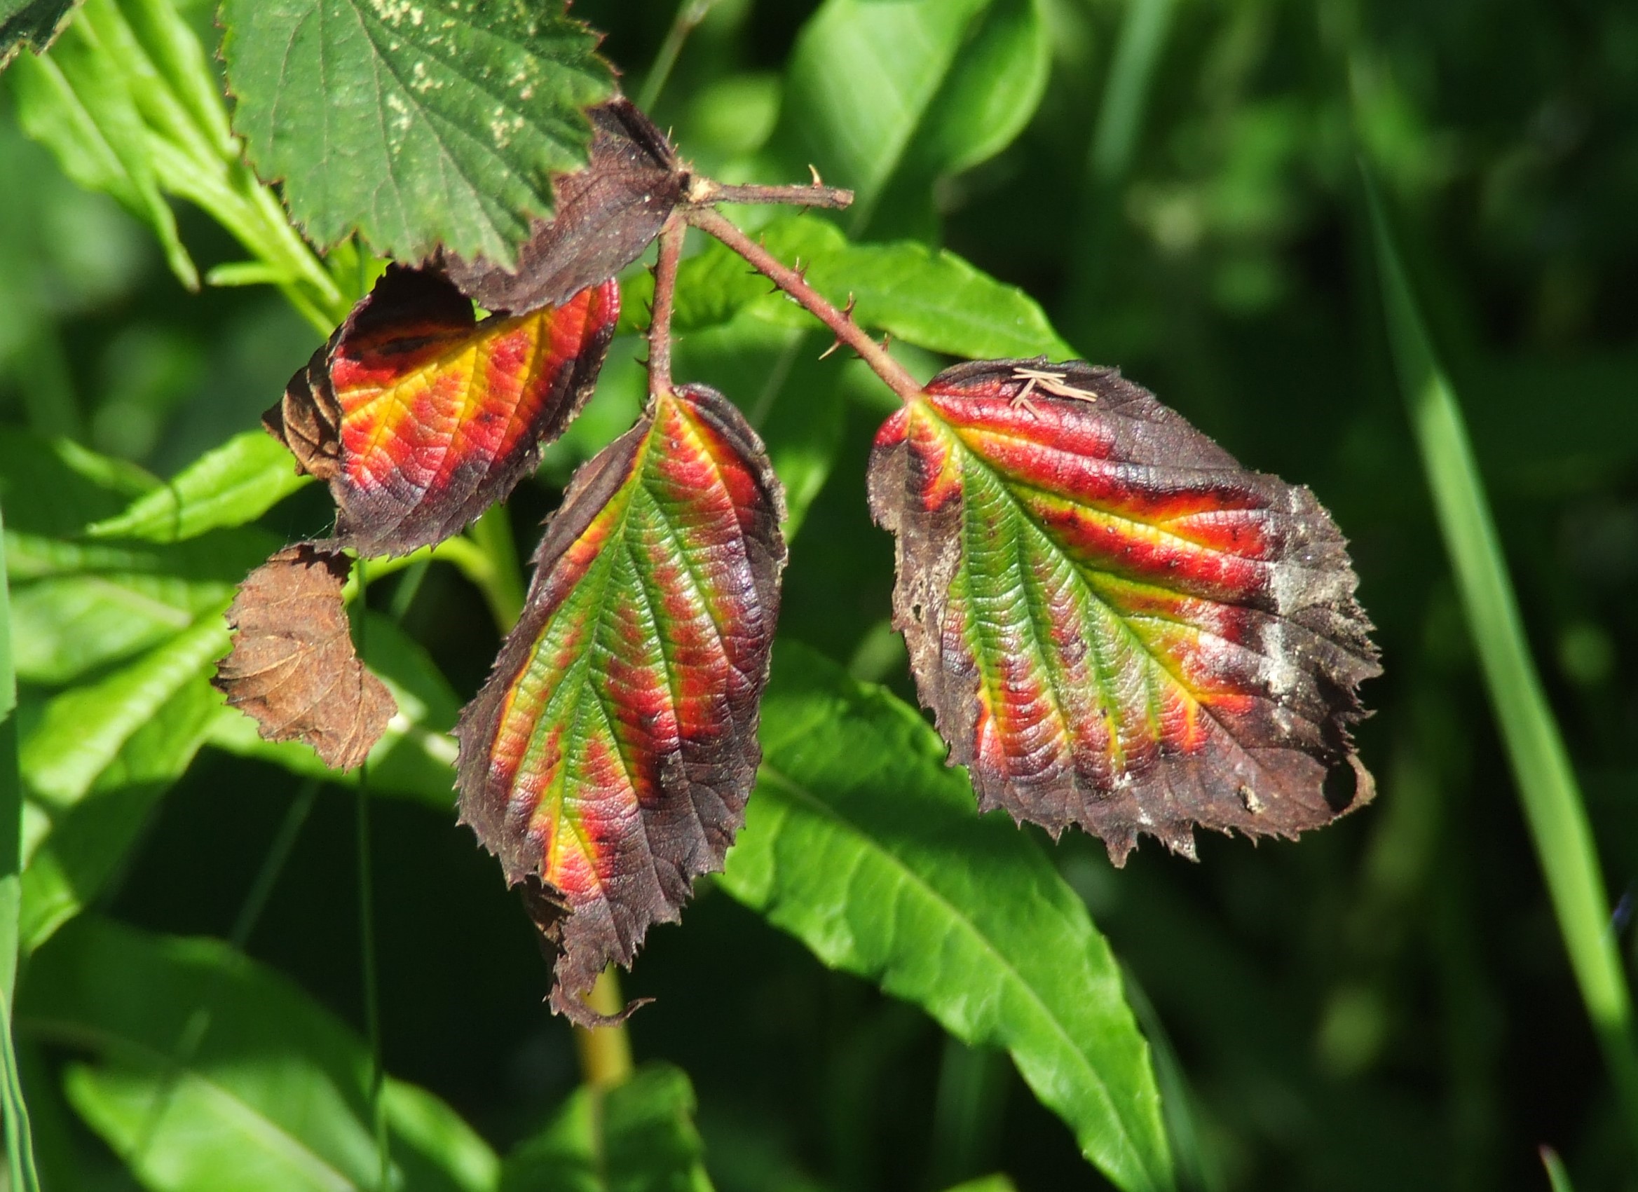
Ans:
[[[1148,1046],[1109,946],[1027,835],[978,817],[922,719],[781,642],[762,743],[722,887],[826,964],[970,1045],[1006,1048],[1119,1187],[1173,1187]]]

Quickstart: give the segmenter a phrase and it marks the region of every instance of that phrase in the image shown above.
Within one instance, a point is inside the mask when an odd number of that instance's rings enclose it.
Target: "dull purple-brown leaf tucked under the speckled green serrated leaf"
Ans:
[[[523,313],[614,277],[660,234],[686,185],[676,152],[631,100],[591,108],[591,164],[554,180],[557,213],[537,219],[516,270],[452,252],[429,262],[485,309]]]

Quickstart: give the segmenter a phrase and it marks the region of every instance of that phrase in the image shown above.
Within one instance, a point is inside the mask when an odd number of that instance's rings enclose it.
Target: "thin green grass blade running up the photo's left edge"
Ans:
[[[23,905],[23,783],[16,770],[16,675],[11,666],[11,591],[0,537],[0,1100],[5,1112],[8,1187],[38,1192],[34,1140],[11,1045],[11,994],[16,991],[16,925]]]

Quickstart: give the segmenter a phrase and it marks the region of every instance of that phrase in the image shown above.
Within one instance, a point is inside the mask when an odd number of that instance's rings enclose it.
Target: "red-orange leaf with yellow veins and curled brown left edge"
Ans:
[[[619,287],[477,323],[421,269],[388,267],[264,419],[329,481],[336,540],[406,553],[459,534],[534,470],[591,396]]]

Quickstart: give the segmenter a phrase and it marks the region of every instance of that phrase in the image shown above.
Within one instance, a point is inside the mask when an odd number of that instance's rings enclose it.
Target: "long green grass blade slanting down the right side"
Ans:
[[[1592,827],[1564,737],[1530,657],[1461,406],[1433,354],[1371,169],[1363,159],[1360,170],[1371,213],[1387,334],[1433,509],[1558,928],[1620,1095],[1627,1130],[1638,1146],[1638,1050],[1631,999],[1609,930],[1610,902]]]

